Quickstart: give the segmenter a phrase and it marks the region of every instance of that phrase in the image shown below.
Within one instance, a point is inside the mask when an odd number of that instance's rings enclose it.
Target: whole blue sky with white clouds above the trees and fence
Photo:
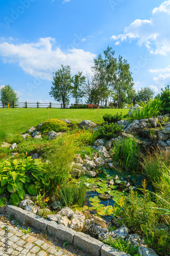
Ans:
[[[130,63],[136,90],[169,84],[170,1],[6,0],[0,12],[0,88],[20,102],[55,102],[53,72],[86,74],[107,46]]]

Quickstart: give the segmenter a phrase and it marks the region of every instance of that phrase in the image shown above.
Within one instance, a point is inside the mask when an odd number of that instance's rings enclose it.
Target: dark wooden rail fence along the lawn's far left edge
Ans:
[[[72,104],[66,104],[66,108],[69,108],[69,106],[71,106]],[[63,109],[63,104],[57,104],[57,103],[29,103],[29,102],[9,102],[9,107],[12,109],[15,108],[38,108],[38,109],[42,109],[42,108],[61,108]],[[0,102],[0,108],[8,108],[8,105],[5,104],[5,102]]]

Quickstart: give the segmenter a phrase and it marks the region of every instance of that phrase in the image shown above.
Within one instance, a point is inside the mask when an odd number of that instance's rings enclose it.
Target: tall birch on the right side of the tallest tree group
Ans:
[[[134,83],[130,65],[126,59],[119,55],[114,58],[114,51],[108,47],[104,51],[106,62],[106,79],[112,90],[117,94],[118,108],[123,108],[128,92],[133,89]]]

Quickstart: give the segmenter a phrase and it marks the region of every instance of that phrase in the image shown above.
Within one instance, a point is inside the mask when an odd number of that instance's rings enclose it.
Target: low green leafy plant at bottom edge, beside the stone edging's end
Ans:
[[[119,251],[124,251],[131,256],[140,256],[140,254],[137,253],[139,246],[136,246],[134,244],[132,245],[129,241],[122,240],[121,238],[113,240],[111,237],[109,237],[107,241],[103,242],[107,243],[108,245],[114,247]]]

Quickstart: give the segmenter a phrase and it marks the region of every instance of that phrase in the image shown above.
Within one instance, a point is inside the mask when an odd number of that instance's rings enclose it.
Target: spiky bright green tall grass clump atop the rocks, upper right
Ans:
[[[148,119],[153,117],[157,117],[162,108],[163,108],[163,101],[160,99],[160,97],[155,97],[155,99],[150,99],[148,102],[140,102],[141,109],[134,109],[131,110],[131,115],[127,115],[127,118],[130,122],[133,122],[134,120],[140,120],[140,119]]]

